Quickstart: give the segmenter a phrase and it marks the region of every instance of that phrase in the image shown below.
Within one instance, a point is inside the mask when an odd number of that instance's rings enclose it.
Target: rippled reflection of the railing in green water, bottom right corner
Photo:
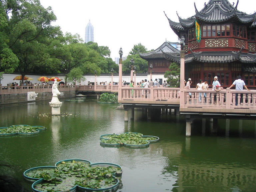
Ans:
[[[236,191],[252,191],[256,188],[255,169],[245,169],[240,165],[182,164],[179,165],[178,176],[178,192],[184,189],[189,191],[189,186],[197,186],[198,191],[202,186],[204,191],[231,191],[230,188],[238,185]]]

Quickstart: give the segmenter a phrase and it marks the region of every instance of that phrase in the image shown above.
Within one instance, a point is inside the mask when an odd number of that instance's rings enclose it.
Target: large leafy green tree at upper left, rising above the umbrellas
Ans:
[[[11,13],[8,22],[8,44],[19,59],[17,71],[24,77],[49,58],[46,48],[57,35],[58,29],[55,30],[55,27],[51,26],[56,16],[51,7],[45,9],[39,0],[2,2],[6,5],[6,12]]]

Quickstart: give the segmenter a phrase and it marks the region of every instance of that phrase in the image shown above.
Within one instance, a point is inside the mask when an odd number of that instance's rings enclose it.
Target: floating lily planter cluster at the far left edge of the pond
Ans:
[[[30,125],[12,125],[0,129],[0,136],[7,135],[33,135],[39,133],[40,130],[45,130],[43,126],[30,126]]]

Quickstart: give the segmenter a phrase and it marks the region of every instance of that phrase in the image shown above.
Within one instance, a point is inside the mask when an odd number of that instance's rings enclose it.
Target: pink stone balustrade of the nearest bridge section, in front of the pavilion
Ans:
[[[250,108],[256,109],[256,90],[243,90],[236,91],[231,89],[224,89],[219,92],[215,90],[184,90],[184,100],[180,100],[179,88],[166,88],[166,87],[122,87],[121,95],[118,97],[118,102],[132,102],[136,103],[145,102],[159,102],[166,104],[180,104],[181,107],[195,107],[195,108]],[[238,104],[235,105],[235,98],[237,94]],[[146,98],[147,95],[147,98]],[[201,95],[201,102],[199,97]],[[214,103],[216,99],[216,105]]]

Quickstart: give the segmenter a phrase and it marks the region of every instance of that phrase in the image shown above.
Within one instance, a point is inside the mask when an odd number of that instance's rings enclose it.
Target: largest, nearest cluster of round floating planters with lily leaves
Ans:
[[[35,192],[113,191],[118,189],[122,167],[113,163],[94,163],[83,159],[66,159],[55,166],[26,170],[24,178],[34,181]],[[36,180],[36,181],[35,181]]]

